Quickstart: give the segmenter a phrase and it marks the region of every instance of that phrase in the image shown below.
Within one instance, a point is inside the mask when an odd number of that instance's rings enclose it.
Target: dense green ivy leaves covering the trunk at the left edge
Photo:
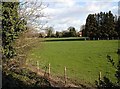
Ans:
[[[20,20],[18,6],[19,2],[2,2],[3,58],[11,58],[15,55],[13,42],[25,28],[26,22]]]

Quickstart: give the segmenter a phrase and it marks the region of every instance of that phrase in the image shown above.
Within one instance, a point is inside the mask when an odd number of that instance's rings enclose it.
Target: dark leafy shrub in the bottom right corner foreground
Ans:
[[[118,52],[117,52],[118,55],[120,55],[119,51],[120,50],[118,49]],[[96,81],[96,85],[99,89],[119,89],[120,88],[120,59],[118,57],[117,63],[115,63],[115,60],[113,60],[112,57],[109,55],[107,55],[107,59],[108,59],[108,62],[112,64],[112,67],[116,70],[115,77],[117,79],[117,82],[113,83],[112,81],[110,81],[109,78],[104,76],[103,80],[99,79],[99,82]]]

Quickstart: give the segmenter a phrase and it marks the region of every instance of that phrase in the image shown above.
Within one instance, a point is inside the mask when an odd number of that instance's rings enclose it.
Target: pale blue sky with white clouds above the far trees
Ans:
[[[39,1],[39,0],[38,0]],[[41,0],[40,0],[41,1]],[[88,14],[112,11],[118,14],[119,0],[42,0],[49,6],[44,10],[48,15],[46,26],[56,31],[67,30],[73,26],[77,31],[85,24]]]

